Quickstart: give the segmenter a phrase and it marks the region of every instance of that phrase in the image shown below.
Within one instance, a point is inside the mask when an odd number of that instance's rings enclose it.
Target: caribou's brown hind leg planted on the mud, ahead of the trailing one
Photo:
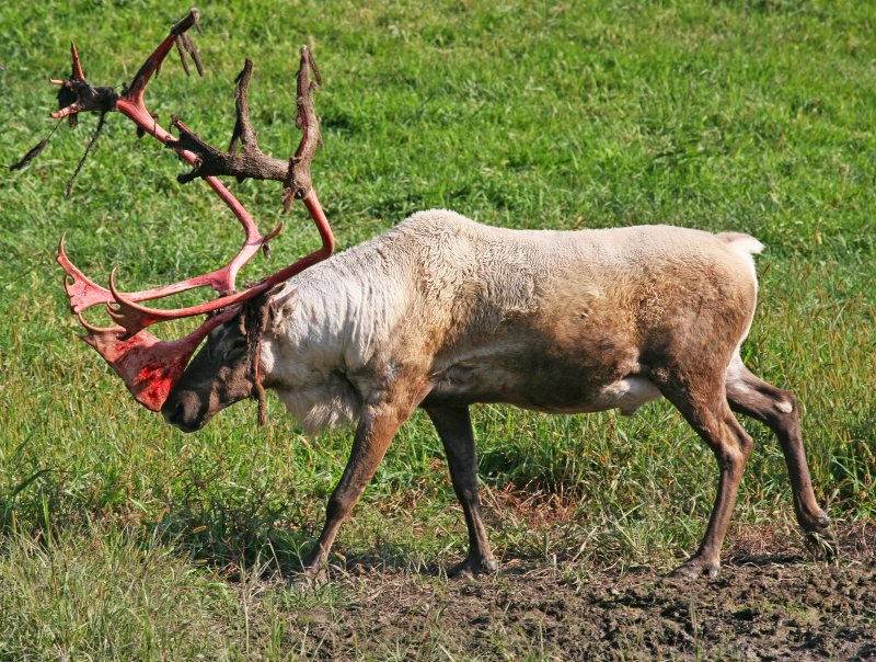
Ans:
[[[705,373],[667,376],[654,375],[664,396],[675,404],[691,427],[712,449],[718,464],[718,489],[703,540],[696,553],[672,574],[693,580],[702,574],[718,575],[721,547],[730,522],[742,469],[753,442],[733,415],[724,396],[721,378],[710,379]]]

